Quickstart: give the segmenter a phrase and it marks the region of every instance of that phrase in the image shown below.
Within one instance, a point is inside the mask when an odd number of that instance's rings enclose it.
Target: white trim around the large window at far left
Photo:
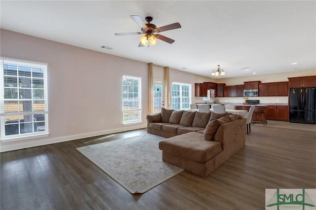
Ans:
[[[16,111],[16,112],[4,112],[4,102],[5,101],[18,101],[21,102],[21,100],[19,99],[4,99],[4,63],[6,64],[13,64],[13,65],[17,65],[17,66],[27,66],[27,67],[35,67],[35,68],[40,68],[43,69],[43,95],[44,98],[43,99],[30,99],[30,100],[23,100],[23,101],[43,101],[44,102],[44,110],[43,111]],[[47,66],[48,64],[46,63],[39,63],[39,62],[33,62],[33,61],[26,61],[26,60],[19,60],[19,59],[13,59],[13,58],[6,58],[6,57],[0,57],[0,140],[3,142],[7,142],[7,141],[15,141],[15,140],[26,140],[26,139],[33,139],[33,138],[39,138],[39,137],[43,137],[43,136],[48,136],[49,132],[48,132],[48,85],[47,85]],[[38,77],[25,77],[25,76],[19,76],[17,74],[17,79],[19,78],[38,78]],[[19,84],[19,81],[17,81]],[[19,89],[19,87],[17,88]],[[36,90],[37,88],[30,88],[31,91],[33,92],[33,90]],[[45,130],[44,131],[37,131],[37,132],[30,132],[30,133],[24,133],[24,134],[12,134],[12,135],[5,135],[5,120],[4,117],[5,116],[9,116],[9,115],[33,115],[33,114],[44,114],[44,126],[45,126]],[[34,123],[34,121],[32,121],[32,123]],[[21,122],[18,123],[18,125],[21,125]]]

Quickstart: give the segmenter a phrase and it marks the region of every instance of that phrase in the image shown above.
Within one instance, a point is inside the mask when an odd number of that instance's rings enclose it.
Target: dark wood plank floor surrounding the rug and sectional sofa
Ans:
[[[316,132],[252,126],[246,146],[206,178],[182,172],[131,194],[77,147],[145,129],[1,153],[1,210],[264,210],[266,188],[316,188]]]

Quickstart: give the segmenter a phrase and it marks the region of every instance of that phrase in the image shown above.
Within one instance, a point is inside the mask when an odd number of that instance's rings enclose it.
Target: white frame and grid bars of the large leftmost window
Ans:
[[[5,64],[11,64],[17,66],[17,73],[16,75],[10,75],[10,74],[4,74],[4,66]],[[33,62],[33,61],[24,61],[24,60],[18,60],[18,59],[12,59],[12,58],[5,58],[0,57],[0,140],[1,141],[13,141],[13,140],[24,140],[24,139],[30,139],[30,138],[37,138],[42,136],[47,136],[49,134],[48,132],[48,90],[47,90],[47,64],[45,63],[39,63],[39,62]],[[20,75],[19,68],[30,68],[30,75]],[[42,73],[42,77],[37,77],[36,70],[34,69],[40,69],[40,74]],[[41,71],[42,70],[42,71]],[[35,75],[35,76],[34,76]],[[31,98],[25,98],[23,99],[20,95],[17,98],[5,98],[5,87],[4,87],[4,77],[8,79],[8,77],[15,78],[16,77],[16,84],[17,87],[12,87],[11,89],[16,89],[17,93],[21,93],[21,90],[29,92],[31,94]],[[30,80],[31,85],[29,87],[23,87],[20,86],[21,80]],[[34,84],[34,81],[36,80],[42,80],[42,88],[36,87]],[[43,98],[37,98],[35,97],[35,94],[37,94],[37,91],[42,93]],[[17,102],[18,108],[16,111],[7,111],[4,108],[4,104],[9,102]],[[20,105],[23,103],[28,102],[28,104],[31,104],[32,110],[21,110]],[[35,104],[37,103],[43,103],[42,106],[43,110],[35,110]],[[23,105],[22,105],[23,107]],[[24,115],[26,117],[32,117],[32,121],[21,121],[21,116]],[[36,116],[41,118],[40,121],[37,121]],[[17,123],[14,122],[14,124],[11,125],[17,125],[18,126],[18,134],[11,134],[11,135],[5,135],[5,122],[8,120],[5,119],[5,116],[17,116]],[[25,120],[23,116],[23,119]],[[43,118],[43,119],[42,119]],[[40,130],[36,130],[36,126],[38,126],[38,123],[44,124],[43,126],[39,126]],[[32,132],[27,133],[20,133],[21,132],[21,125],[25,126],[27,124],[32,124]],[[7,124],[10,125],[10,124]],[[39,128],[37,127],[37,128]],[[29,127],[30,128],[30,127]],[[31,129],[30,128],[30,129]]]

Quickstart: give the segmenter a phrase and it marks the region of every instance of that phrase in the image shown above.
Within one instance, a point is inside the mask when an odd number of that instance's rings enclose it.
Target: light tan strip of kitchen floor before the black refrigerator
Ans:
[[[255,123],[254,126],[263,126],[262,123]],[[252,125],[251,125],[252,126]],[[276,127],[276,128],[289,128],[305,131],[316,131],[316,125],[314,124],[304,124],[304,123],[290,123],[283,121],[274,121],[268,120],[267,127]]]

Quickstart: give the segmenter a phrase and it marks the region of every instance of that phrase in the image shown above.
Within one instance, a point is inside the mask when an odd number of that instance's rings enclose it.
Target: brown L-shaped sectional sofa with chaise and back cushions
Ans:
[[[245,145],[246,119],[240,115],[162,108],[147,115],[147,132],[159,142],[162,160],[206,177]]]

